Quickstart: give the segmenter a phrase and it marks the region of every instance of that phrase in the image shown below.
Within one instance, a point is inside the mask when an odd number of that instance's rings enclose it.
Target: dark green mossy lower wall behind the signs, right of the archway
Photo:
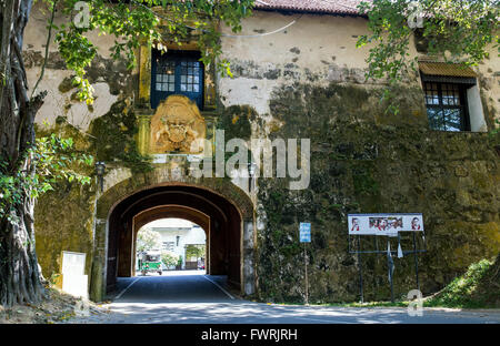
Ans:
[[[348,213],[423,213],[423,293],[443,287],[470,263],[498,254],[500,167],[491,136],[430,131],[418,89],[402,88],[401,113],[388,114],[378,101],[380,92],[339,84],[294,84],[274,92],[271,115],[283,125],[271,135],[311,139],[311,180],[303,191],[289,191],[283,179],[259,180],[262,298],[303,301],[299,222],[312,224],[311,302],[359,298]],[[383,241],[379,244],[387,248]],[[403,246],[411,250],[411,242]],[[396,295],[406,295],[416,288],[413,256],[394,258],[394,264]],[[364,298],[390,298],[386,256],[364,255],[362,266]]]

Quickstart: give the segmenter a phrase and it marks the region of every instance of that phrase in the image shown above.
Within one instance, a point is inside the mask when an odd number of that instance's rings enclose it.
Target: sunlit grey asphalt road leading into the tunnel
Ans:
[[[240,299],[224,277],[201,271],[120,278],[107,316],[77,318],[99,324],[499,324],[500,312],[406,308],[353,308],[277,305]]]

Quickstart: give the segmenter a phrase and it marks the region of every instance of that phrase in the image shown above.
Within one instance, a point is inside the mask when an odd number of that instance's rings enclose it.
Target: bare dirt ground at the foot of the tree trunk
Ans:
[[[100,304],[73,297],[58,288],[46,288],[46,295],[39,304],[14,305],[10,308],[0,306],[0,324],[56,324],[73,317],[110,314]]]

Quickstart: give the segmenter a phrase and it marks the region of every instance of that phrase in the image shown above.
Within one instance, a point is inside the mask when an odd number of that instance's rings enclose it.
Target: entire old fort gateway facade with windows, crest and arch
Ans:
[[[348,214],[422,214],[423,294],[498,254],[497,53],[460,69],[429,57],[416,38],[410,53],[418,69],[398,89],[400,112],[392,114],[380,102],[387,82],[364,79],[369,48],[356,47],[368,33],[367,18],[356,10],[359,1],[340,2],[258,2],[241,32],[221,24],[221,58],[232,78],[199,60],[194,37],[181,45],[161,42],[166,53],[141,45],[137,67],[128,70],[111,59],[114,38],[92,32],[99,49],[88,69],[92,105],[74,100],[72,72],[51,44],[37,135],[73,138],[106,172],[102,189],[89,167],[83,173],[92,184],[60,183],[38,201],[43,276],[61,273],[63,251],[84,253],[89,296],[102,301],[117,277],[133,275],[138,230],[167,217],[204,230],[208,274],[227,275],[246,297],[277,302],[304,296],[302,222],[311,224],[311,302],[358,299],[360,266],[364,297],[390,296],[387,258],[349,252]],[[46,49],[42,9],[34,6],[24,32],[31,88]],[[66,20],[57,14],[54,23]],[[194,174],[197,165],[210,169]],[[303,184],[290,189],[294,182]],[[367,248],[387,247],[361,241]],[[401,246],[412,245],[401,240]],[[397,296],[416,288],[413,265],[412,256],[394,257]]]

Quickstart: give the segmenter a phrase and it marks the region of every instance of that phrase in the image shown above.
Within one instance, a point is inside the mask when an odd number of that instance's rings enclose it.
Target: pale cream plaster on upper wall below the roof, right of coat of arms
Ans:
[[[294,24],[280,32],[244,37],[272,32],[293,20]],[[234,35],[229,28],[222,30]],[[270,120],[272,92],[282,85],[296,82],[322,86],[331,82],[380,84],[380,81],[364,81],[369,45],[356,48],[359,35],[368,33],[362,18],[256,11],[237,33],[241,38],[222,38],[223,55],[231,62],[234,78],[218,81],[220,100],[227,106],[251,104],[260,116]],[[413,44],[409,53],[410,58],[419,54]],[[499,118],[500,59],[496,48],[491,48],[489,60],[473,69],[480,74],[483,106],[491,116]],[[420,85],[417,75],[411,75],[406,83]]]

